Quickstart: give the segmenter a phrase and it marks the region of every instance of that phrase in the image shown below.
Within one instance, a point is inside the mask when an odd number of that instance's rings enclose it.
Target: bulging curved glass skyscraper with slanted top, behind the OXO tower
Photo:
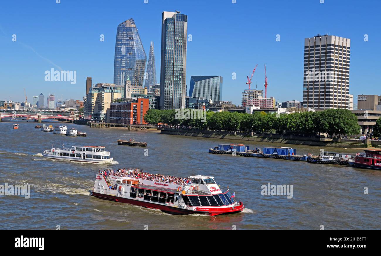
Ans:
[[[132,86],[143,86],[146,60],[146,52],[134,20],[128,19],[120,23],[115,42],[114,84],[122,87],[122,98],[125,98],[127,77],[130,77]]]

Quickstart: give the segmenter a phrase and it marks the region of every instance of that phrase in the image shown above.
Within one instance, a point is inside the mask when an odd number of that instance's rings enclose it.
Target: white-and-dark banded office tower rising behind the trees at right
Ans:
[[[351,39],[316,35],[304,39],[303,106],[349,109]]]

